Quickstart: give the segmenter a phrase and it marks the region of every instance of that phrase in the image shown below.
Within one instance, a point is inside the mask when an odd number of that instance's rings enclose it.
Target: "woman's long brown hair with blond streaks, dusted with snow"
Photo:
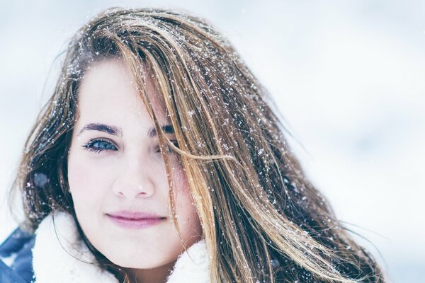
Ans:
[[[211,282],[384,282],[373,257],[305,178],[271,97],[232,45],[203,19],[176,11],[111,8],[72,37],[13,186],[22,192],[30,229],[57,210],[75,218],[67,154],[79,85],[91,63],[108,58],[132,69],[162,148],[181,157]],[[158,89],[178,147],[157,123],[147,79]],[[168,162],[166,170],[172,173]]]

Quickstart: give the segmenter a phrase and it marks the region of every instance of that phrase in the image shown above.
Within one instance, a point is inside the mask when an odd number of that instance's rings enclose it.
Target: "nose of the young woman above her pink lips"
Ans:
[[[128,162],[113,183],[113,193],[120,198],[137,199],[152,197],[155,193],[154,178],[149,165],[141,161]]]

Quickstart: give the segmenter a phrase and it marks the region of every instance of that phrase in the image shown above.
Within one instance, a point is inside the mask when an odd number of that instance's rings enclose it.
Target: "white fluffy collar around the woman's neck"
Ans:
[[[52,219],[52,215],[43,219],[35,232],[33,270],[36,283],[118,283],[110,272],[90,263],[95,262],[94,255],[81,241],[72,216],[55,213],[55,225]],[[193,244],[180,255],[166,282],[210,282],[205,241]]]

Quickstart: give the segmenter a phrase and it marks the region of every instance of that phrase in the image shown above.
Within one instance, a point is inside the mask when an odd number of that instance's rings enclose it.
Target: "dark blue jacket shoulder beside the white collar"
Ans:
[[[0,282],[30,283],[33,280],[33,246],[35,236],[16,229],[0,246]],[[1,258],[11,258],[8,266]]]

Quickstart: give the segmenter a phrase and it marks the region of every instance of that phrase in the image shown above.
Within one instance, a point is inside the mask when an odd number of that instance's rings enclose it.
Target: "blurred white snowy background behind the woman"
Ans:
[[[307,174],[392,282],[424,282],[425,1],[0,1],[0,242],[6,190],[67,39],[108,6],[207,18],[273,94]],[[46,83],[47,82],[47,83]]]

